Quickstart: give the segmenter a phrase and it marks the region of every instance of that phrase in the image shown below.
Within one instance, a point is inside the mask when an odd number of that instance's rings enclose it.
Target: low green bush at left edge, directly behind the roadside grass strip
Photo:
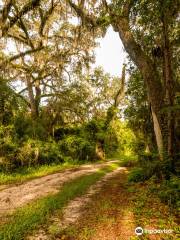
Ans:
[[[70,161],[61,153],[58,143],[50,140],[43,142],[29,139],[21,145],[6,141],[0,149],[3,149],[0,157],[0,170],[6,172],[18,167]]]

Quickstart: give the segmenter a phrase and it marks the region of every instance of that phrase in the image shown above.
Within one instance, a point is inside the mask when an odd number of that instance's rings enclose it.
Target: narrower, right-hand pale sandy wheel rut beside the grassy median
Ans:
[[[76,224],[78,219],[82,217],[83,214],[86,214],[85,206],[87,206],[88,203],[91,201],[92,196],[98,193],[103,188],[103,185],[107,183],[111,178],[117,176],[124,171],[126,171],[126,168],[119,167],[113,172],[107,173],[96,184],[92,185],[85,195],[77,197],[70,201],[70,203],[64,208],[61,218],[59,216],[53,216],[50,220],[51,224],[55,224],[55,226],[58,227],[60,230],[66,229],[67,227]],[[45,229],[39,229],[35,231],[32,236],[28,236],[26,239],[50,240],[54,239],[54,236],[51,236]]]

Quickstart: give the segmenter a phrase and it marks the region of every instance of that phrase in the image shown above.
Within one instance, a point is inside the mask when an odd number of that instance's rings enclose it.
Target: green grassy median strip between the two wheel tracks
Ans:
[[[36,200],[36,202],[16,210],[9,221],[0,227],[0,239],[25,239],[24,237],[32,230],[46,223],[53,213],[61,210],[73,198],[83,195],[92,184],[96,183],[107,172],[116,169],[117,166],[117,164],[112,164],[96,173],[65,183],[59,193]]]

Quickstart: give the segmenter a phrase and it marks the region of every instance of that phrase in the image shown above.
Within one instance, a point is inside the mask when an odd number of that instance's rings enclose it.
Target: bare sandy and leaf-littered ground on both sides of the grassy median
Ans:
[[[86,165],[7,188],[0,192],[1,219],[5,213],[12,212],[19,206],[61,192],[60,186],[67,181],[82,176],[81,181],[86,182],[83,176],[91,177],[97,170],[115,162]],[[116,167],[89,185],[87,191],[71,197],[63,210],[56,209],[47,221],[28,232],[28,236],[3,240],[179,239],[174,212],[149,192],[147,183],[128,183],[128,172],[128,168]],[[78,185],[78,181],[75,185]],[[149,231],[149,234],[137,237],[135,228],[139,226],[144,232]],[[169,232],[152,232],[164,229]]]

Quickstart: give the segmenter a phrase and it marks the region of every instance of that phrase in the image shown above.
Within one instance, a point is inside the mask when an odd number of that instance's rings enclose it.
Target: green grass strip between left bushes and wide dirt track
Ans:
[[[42,177],[51,173],[59,172],[68,168],[78,167],[79,165],[72,163],[42,165],[39,167],[21,168],[14,173],[0,172],[0,185],[9,183],[22,183],[24,181]]]

